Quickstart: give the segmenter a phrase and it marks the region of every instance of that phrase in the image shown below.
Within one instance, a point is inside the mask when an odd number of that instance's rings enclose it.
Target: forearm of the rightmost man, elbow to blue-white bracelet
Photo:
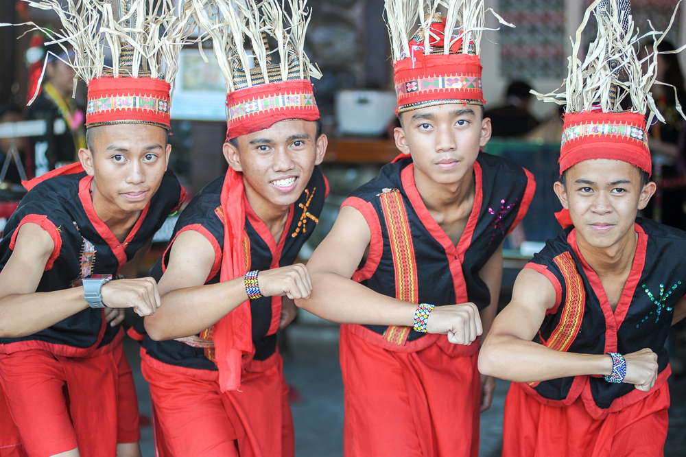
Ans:
[[[497,334],[486,338],[479,355],[484,375],[513,382],[539,382],[567,376],[611,375],[608,355],[555,351],[516,336]]]

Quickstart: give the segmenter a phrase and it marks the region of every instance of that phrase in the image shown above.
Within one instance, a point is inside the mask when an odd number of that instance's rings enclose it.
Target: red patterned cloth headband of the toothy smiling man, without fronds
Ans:
[[[229,139],[270,128],[285,119],[319,119],[319,108],[309,80],[259,84],[226,95]]]

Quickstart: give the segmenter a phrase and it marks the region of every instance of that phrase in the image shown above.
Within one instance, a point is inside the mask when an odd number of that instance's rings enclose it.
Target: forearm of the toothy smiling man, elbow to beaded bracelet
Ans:
[[[243,277],[167,292],[155,314],[145,318],[153,340],[196,335],[248,300]]]

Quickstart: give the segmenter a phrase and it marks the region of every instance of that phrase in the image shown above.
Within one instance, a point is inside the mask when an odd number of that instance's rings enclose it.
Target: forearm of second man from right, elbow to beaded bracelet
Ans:
[[[296,305],[342,324],[414,325],[417,305],[379,294],[333,272],[311,273],[312,293]]]

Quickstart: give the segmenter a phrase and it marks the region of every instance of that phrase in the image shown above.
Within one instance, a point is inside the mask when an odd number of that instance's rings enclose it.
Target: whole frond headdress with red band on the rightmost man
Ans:
[[[581,34],[591,13],[598,19],[598,35],[582,61],[578,58]],[[670,27],[673,21],[674,16]],[[651,173],[646,113],[650,111],[648,125],[654,117],[664,121],[650,88],[653,84],[663,84],[655,80],[657,45],[667,30],[651,30],[640,36],[635,31],[628,0],[595,0],[586,10],[576,40],[572,42],[565,91],[545,95],[532,91],[544,102],[567,105],[560,174],[576,163],[591,159],[624,161]],[[641,59],[637,51],[643,38],[652,38],[652,51],[646,49],[647,55]],[[673,52],[678,51],[681,49]],[[622,109],[622,100],[630,102],[628,110]],[[676,109],[681,113],[678,99]]]

